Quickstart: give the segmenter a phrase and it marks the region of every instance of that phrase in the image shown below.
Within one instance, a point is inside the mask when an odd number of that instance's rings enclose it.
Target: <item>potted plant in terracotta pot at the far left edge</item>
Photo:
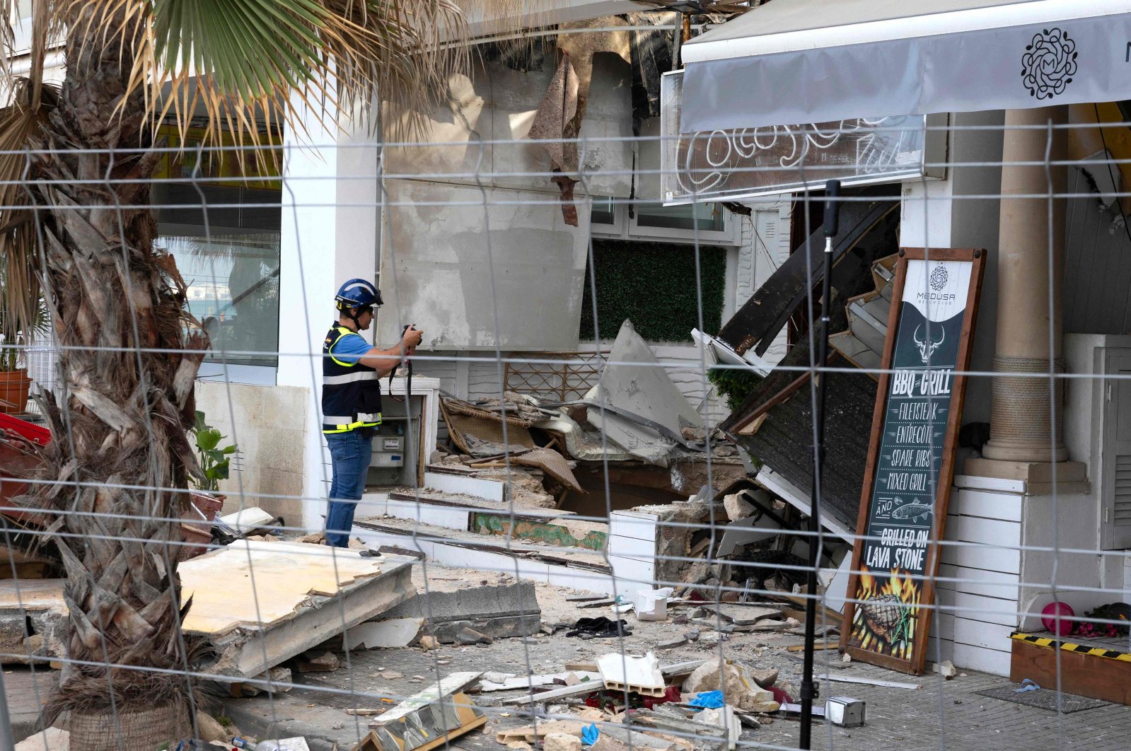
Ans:
[[[20,285],[9,284],[6,267],[0,265],[0,412],[17,414],[25,412],[32,388],[24,349],[48,336],[50,318],[40,291],[14,288]],[[25,304],[28,293],[32,305]]]

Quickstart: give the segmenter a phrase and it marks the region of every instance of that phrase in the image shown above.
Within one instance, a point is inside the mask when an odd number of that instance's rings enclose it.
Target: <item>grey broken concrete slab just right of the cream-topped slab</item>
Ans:
[[[421,619],[422,631],[442,644],[459,641],[465,629],[489,639],[528,637],[542,628],[542,608],[534,585],[466,586],[454,592],[417,592],[386,611],[380,621]],[[412,642],[409,642],[412,644]]]

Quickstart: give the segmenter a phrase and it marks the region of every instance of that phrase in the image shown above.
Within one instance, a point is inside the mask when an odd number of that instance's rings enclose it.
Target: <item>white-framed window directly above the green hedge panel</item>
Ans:
[[[664,206],[653,201],[629,204],[595,197],[589,214],[594,235],[630,240],[714,242],[739,244],[736,222],[722,204]]]

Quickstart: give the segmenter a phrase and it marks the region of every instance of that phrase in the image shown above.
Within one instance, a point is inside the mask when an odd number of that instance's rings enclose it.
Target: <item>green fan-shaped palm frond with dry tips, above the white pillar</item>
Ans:
[[[141,92],[153,124],[183,133],[202,120],[206,144],[228,131],[265,155],[282,123],[302,130],[309,111],[329,128],[368,118],[378,92],[426,111],[467,64],[442,44],[465,33],[454,0],[68,1],[72,34],[120,35],[133,52],[123,107]]]

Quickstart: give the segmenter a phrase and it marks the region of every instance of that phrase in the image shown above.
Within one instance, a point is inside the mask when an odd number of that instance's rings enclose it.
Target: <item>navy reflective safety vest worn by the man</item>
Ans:
[[[348,433],[381,424],[381,385],[377,371],[334,356],[334,346],[353,334],[335,325],[322,344],[322,432]]]

